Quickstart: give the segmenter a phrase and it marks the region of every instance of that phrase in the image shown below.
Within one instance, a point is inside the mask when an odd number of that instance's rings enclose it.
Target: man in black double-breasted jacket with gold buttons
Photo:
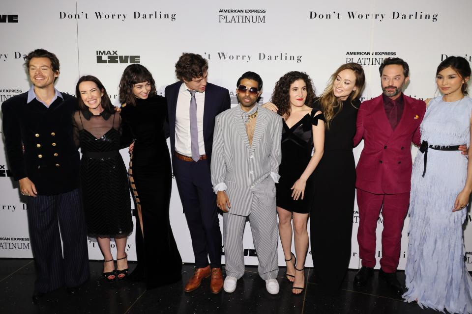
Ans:
[[[89,256],[80,157],[72,139],[77,100],[54,88],[59,77],[55,54],[36,49],[25,61],[32,86],[5,101],[1,110],[11,172],[27,197],[37,303],[44,293],[63,286],[74,293],[89,278]]]

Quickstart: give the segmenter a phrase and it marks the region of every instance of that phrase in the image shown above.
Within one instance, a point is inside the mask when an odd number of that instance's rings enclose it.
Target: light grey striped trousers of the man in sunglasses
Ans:
[[[244,274],[242,239],[247,218],[249,219],[252,240],[259,260],[259,276],[264,280],[275,279],[279,271],[277,260],[279,229],[275,196],[273,206],[266,207],[253,195],[253,205],[249,216],[240,216],[229,212],[223,213],[226,276],[239,279]]]

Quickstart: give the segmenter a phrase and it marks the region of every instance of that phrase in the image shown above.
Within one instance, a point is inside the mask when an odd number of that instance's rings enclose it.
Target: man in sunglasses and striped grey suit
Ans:
[[[223,211],[226,292],[244,274],[242,238],[249,218],[259,275],[271,294],[279,292],[275,183],[281,161],[282,117],[257,105],[262,79],[246,72],[237,80],[239,105],[215,120],[211,183]]]

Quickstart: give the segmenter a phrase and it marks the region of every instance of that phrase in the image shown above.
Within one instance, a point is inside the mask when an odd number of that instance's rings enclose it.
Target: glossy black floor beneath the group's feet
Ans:
[[[135,267],[130,263],[130,269]],[[193,274],[193,265],[183,266],[183,282]],[[32,260],[0,259],[0,313],[380,313],[429,314],[416,304],[408,304],[390,293],[377,281],[371,285],[353,288],[354,270],[350,270],[339,297],[328,297],[313,283],[312,269],[306,268],[307,285],[302,295],[291,293],[291,284],[285,279],[285,268],[280,268],[280,292],[267,293],[265,282],[257,274],[257,267],[246,267],[246,274],[238,280],[232,294],[222,291],[212,294],[206,279],[197,290],[184,293],[183,283],[147,291],[144,284],[128,282],[106,283],[99,280],[101,262],[90,262],[90,280],[74,295],[65,289],[53,291],[41,298],[39,305],[31,302],[34,283]],[[163,270],[165,271],[165,270]],[[399,277],[404,281],[403,272]]]

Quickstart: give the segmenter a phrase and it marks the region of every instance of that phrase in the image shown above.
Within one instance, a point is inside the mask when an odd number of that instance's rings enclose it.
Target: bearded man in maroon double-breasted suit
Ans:
[[[410,204],[412,175],[411,143],[420,144],[419,125],[426,105],[402,93],[409,80],[408,64],[400,58],[386,58],[380,68],[383,94],[362,103],[357,115],[354,146],[364,139],[357,163],[357,241],[362,267],[354,283],[363,286],[372,277],[376,228],[382,209],[382,259],[379,276],[396,293],[403,286],[396,277],[405,216]]]

